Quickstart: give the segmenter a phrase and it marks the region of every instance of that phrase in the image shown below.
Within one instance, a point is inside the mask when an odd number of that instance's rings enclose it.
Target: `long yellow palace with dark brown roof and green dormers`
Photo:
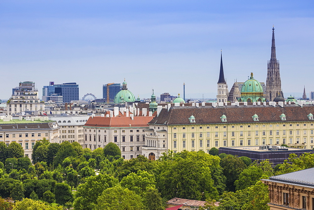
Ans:
[[[162,109],[149,122],[143,153],[158,159],[168,149],[209,152],[212,147],[282,144],[313,148],[314,105],[270,103]]]

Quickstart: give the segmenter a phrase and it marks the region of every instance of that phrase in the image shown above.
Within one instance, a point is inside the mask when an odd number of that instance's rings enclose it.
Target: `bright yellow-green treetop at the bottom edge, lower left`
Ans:
[[[35,201],[29,198],[24,198],[22,201],[15,203],[14,210],[25,210],[25,209],[45,209],[45,210],[55,210],[62,209],[62,207],[51,207],[46,205],[44,202]]]

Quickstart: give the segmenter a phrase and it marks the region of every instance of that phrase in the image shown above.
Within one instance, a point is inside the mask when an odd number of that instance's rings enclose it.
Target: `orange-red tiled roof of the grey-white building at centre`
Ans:
[[[84,126],[95,127],[146,127],[154,117],[93,117],[89,118]]]

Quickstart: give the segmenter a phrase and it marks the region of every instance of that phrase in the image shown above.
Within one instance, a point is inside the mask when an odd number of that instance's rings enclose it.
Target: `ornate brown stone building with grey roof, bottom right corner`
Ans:
[[[271,210],[314,210],[314,168],[272,176],[262,180],[268,185]]]

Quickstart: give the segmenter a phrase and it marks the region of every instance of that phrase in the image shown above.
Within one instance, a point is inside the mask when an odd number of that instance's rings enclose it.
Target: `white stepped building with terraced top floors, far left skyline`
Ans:
[[[32,115],[43,114],[45,103],[41,102],[38,97],[38,90],[35,88],[35,82],[20,82],[19,87],[14,88],[15,91],[7,102],[7,114],[29,112]],[[37,112],[38,111],[38,112]]]

